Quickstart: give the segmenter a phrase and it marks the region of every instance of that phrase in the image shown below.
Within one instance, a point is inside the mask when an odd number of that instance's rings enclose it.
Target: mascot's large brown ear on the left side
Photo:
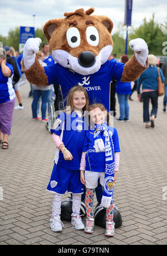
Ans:
[[[53,31],[56,29],[56,27],[60,26],[60,23],[62,22],[62,20],[63,18],[55,18],[53,20],[47,21],[43,26],[43,33],[48,42],[51,39],[51,35]]]

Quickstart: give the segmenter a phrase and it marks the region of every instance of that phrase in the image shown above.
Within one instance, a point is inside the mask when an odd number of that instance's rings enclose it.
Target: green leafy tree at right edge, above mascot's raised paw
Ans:
[[[149,53],[154,55],[162,55],[162,44],[165,40],[165,34],[162,26],[155,22],[155,15],[149,21],[146,18],[143,24],[129,34],[129,39],[140,37],[146,41],[149,48]]]

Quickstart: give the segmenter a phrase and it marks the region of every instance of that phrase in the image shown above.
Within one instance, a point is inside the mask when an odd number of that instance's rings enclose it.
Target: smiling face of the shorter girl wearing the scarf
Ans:
[[[102,111],[99,107],[96,107],[94,108],[94,110],[91,110],[89,112],[90,120],[95,125],[104,124],[106,114],[107,114],[107,111]]]

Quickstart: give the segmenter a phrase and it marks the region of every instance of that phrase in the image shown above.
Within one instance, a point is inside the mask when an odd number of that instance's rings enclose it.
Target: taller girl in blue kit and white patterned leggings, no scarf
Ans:
[[[71,224],[77,230],[85,227],[80,216],[81,194],[84,193],[80,181],[80,161],[86,130],[84,111],[88,106],[86,90],[81,86],[73,87],[67,96],[66,110],[60,113],[51,129],[57,146],[55,164],[47,186],[47,191],[54,193],[50,219],[52,231],[62,231],[61,201],[66,191],[72,193]]]

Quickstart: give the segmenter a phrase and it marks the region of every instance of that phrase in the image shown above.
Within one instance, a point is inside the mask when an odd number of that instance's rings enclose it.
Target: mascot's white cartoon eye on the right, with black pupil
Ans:
[[[97,46],[99,45],[99,32],[96,27],[89,26],[86,29],[86,38],[90,45]]]

